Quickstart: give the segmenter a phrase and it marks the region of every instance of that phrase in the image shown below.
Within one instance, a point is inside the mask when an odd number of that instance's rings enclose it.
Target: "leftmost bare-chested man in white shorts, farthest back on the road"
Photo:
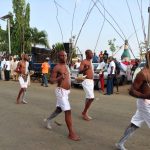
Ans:
[[[18,62],[16,72],[19,74],[19,83],[20,83],[20,91],[17,97],[17,104],[20,102],[23,104],[27,104],[27,101],[25,100],[25,95],[26,95],[26,90],[29,84],[29,62],[28,62],[28,55],[27,54],[22,54],[22,60]],[[20,101],[20,98],[22,96],[22,100]]]

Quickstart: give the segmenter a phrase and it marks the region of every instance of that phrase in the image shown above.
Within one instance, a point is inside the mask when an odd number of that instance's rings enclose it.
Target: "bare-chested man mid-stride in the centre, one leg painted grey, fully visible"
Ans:
[[[59,63],[54,67],[50,78],[50,83],[57,83],[55,90],[56,94],[56,110],[45,121],[47,122],[47,128],[51,129],[51,120],[60,114],[65,112],[65,121],[69,130],[68,138],[74,141],[78,141],[80,138],[75,133],[72,127],[71,107],[68,101],[68,95],[71,88],[71,78],[69,67],[66,64],[67,54],[65,51],[58,53]]]

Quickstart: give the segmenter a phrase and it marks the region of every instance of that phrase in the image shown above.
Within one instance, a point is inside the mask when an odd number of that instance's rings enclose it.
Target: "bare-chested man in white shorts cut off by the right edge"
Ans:
[[[137,111],[131,119],[131,124],[125,130],[123,137],[116,144],[117,149],[126,150],[124,147],[127,139],[140,128],[145,122],[150,128],[150,51],[145,55],[146,65],[137,74],[131,89],[130,95],[137,99]]]

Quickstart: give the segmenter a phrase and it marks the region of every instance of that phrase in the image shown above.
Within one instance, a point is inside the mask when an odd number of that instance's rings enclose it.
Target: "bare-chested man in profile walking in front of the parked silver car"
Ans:
[[[92,118],[88,115],[88,109],[94,100],[94,70],[91,61],[93,58],[93,53],[91,50],[86,50],[85,55],[86,59],[84,59],[80,64],[79,73],[82,73],[86,76],[86,79],[82,82],[82,86],[86,95],[85,107],[82,112],[82,118],[86,121],[89,121]]]

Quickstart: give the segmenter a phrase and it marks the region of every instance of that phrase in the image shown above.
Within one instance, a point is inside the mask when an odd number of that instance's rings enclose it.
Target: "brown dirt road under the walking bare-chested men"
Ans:
[[[115,143],[123,134],[136,110],[136,100],[128,95],[129,86],[121,86],[120,94],[102,95],[95,91],[95,101],[90,110],[92,121],[84,121],[81,111],[84,92],[72,88],[70,103],[73,125],[81,140],[67,138],[64,114],[47,130],[43,119],[55,109],[55,85],[48,88],[32,83],[27,91],[28,104],[16,105],[19,83],[0,81],[0,150],[116,150]],[[150,150],[150,132],[143,125],[126,147],[129,150]]]

